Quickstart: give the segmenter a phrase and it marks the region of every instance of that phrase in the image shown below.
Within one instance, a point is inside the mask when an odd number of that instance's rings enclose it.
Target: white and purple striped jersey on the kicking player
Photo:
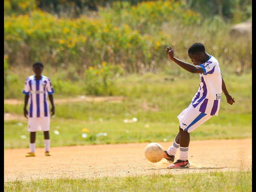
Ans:
[[[199,65],[204,70],[200,75],[198,92],[192,98],[192,106],[198,111],[218,116],[222,94],[222,76],[218,60],[210,56],[208,61]]]

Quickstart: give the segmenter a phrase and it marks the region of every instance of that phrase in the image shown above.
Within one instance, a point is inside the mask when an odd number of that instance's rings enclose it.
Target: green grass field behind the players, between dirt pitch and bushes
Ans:
[[[75,102],[56,104],[51,120],[51,145],[109,144],[172,141],[178,132],[178,114],[186,108],[198,89],[198,76],[165,80],[166,76],[145,74],[122,78],[117,86],[126,100],[112,102]],[[236,104],[227,104],[223,94],[220,112],[191,133],[191,140],[252,137],[252,75],[225,77]],[[55,95],[56,96],[56,95]],[[58,94],[56,98],[58,97]],[[22,105],[4,105],[4,112],[22,115]],[[124,123],[136,117],[138,122]],[[148,127],[149,125],[149,127]],[[27,122],[4,122],[4,148],[28,147]],[[82,129],[90,130],[82,138]],[[58,130],[60,134],[54,134]],[[96,137],[99,132],[107,136]],[[21,139],[26,135],[26,139]],[[38,132],[37,146],[44,146]]]

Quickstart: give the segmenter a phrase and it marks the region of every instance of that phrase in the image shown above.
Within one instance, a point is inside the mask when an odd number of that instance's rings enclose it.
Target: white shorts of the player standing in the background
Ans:
[[[36,117],[28,118],[28,131],[49,131],[50,130],[50,117]]]

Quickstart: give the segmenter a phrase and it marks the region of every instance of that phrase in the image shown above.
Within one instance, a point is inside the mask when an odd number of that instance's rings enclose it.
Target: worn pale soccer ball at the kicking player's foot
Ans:
[[[150,143],[145,148],[145,157],[149,162],[159,162],[164,156],[164,148],[158,143]]]

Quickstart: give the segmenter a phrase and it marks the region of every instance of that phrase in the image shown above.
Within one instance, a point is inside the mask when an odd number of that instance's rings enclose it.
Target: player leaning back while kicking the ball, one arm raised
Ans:
[[[174,50],[171,47],[166,49],[169,59],[191,73],[199,73],[200,84],[198,92],[192,99],[188,108],[179,115],[180,130],[174,143],[168,151],[164,151],[164,158],[169,162],[174,162],[174,156],[180,148],[180,158],[167,168],[188,168],[188,146],[190,142],[190,132],[206,122],[212,116],[218,116],[222,91],[227,102],[232,105],[234,98],[230,96],[222,78],[218,60],[205,51],[204,45],[194,43],[188,49],[188,56],[194,65],[186,63],[174,57]]]

